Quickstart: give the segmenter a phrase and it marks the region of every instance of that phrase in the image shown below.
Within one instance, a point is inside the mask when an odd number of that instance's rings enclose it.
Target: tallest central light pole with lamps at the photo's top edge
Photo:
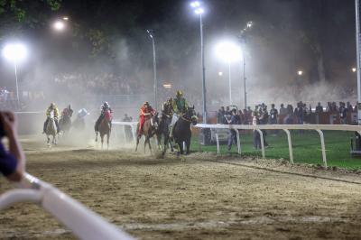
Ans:
[[[194,13],[199,15],[200,28],[200,56],[202,69],[202,100],[203,100],[203,124],[207,124],[207,103],[206,103],[206,67],[204,64],[204,43],[203,43],[203,19],[204,9],[201,7],[199,1],[192,2],[190,6],[194,9]]]

